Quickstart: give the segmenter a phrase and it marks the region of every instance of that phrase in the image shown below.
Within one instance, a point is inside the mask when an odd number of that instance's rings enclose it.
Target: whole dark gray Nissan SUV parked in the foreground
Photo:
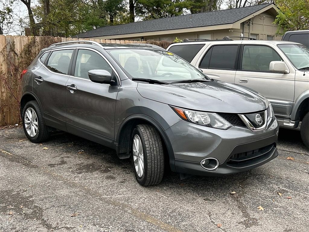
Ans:
[[[22,72],[20,111],[30,141],[61,130],[114,148],[143,186],[166,168],[222,176],[278,155],[269,101],[151,46],[51,45]]]

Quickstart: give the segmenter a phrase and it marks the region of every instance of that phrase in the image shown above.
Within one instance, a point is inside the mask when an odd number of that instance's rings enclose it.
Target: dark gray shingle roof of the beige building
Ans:
[[[152,19],[116,26],[100,27],[88,32],[81,33],[78,38],[112,36],[140,32],[153,32],[183,28],[205,27],[221,24],[232,24],[263,9],[270,4],[247,6],[236,9],[211,11],[192,15],[180,15],[176,17]],[[76,36],[75,36],[76,37]]]

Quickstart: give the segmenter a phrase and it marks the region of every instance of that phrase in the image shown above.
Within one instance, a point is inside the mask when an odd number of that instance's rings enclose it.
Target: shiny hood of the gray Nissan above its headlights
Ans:
[[[219,80],[163,85],[138,83],[137,90],[142,97],[200,111],[240,114],[265,110],[268,106],[261,95]]]

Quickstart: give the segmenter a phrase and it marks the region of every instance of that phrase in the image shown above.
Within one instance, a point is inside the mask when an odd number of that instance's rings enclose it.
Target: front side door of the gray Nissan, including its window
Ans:
[[[114,74],[103,55],[92,49],[78,49],[72,76],[66,83],[67,130],[92,141],[111,146],[114,140],[116,97],[119,86],[92,82],[88,71],[104,69]]]

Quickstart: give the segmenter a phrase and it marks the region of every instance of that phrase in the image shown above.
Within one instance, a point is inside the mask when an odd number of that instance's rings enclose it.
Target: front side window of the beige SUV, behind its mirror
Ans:
[[[271,61],[281,61],[274,49],[261,45],[243,46],[241,70],[269,71]]]

